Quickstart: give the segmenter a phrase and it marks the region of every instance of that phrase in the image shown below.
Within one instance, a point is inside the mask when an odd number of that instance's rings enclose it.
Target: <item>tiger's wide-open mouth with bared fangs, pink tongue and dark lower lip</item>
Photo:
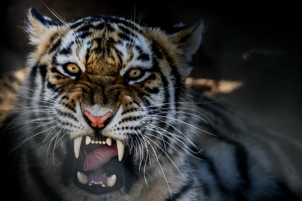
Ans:
[[[79,137],[74,140],[73,182],[84,190],[103,194],[121,189],[129,171],[125,167],[128,150],[111,138]]]

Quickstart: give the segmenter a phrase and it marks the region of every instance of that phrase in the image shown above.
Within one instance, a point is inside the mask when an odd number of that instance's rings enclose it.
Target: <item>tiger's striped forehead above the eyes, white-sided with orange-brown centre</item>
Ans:
[[[68,24],[55,54],[58,65],[77,63],[83,72],[116,74],[152,66],[146,27],[109,17],[87,17]]]

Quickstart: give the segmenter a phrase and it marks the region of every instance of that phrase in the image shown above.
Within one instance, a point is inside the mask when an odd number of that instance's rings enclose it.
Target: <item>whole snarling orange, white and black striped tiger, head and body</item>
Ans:
[[[28,12],[26,78],[8,120],[18,200],[300,200],[235,113],[186,85],[204,22]],[[10,134],[7,134],[10,133]],[[259,134],[260,135],[260,134]],[[13,198],[12,198],[13,199]]]

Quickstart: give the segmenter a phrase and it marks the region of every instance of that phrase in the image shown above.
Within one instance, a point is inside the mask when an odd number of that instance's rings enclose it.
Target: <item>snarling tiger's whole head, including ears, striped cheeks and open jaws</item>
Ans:
[[[173,188],[168,171],[196,133],[182,104],[202,24],[168,34],[110,16],[56,22],[31,9],[29,19],[35,50],[22,93],[41,125],[28,144],[55,167],[42,162],[42,172],[66,197],[126,199],[153,177]]]

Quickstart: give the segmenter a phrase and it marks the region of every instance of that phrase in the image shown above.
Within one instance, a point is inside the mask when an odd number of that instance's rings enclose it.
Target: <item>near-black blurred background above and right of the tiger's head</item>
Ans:
[[[21,1],[2,6],[1,73],[25,65],[28,45],[26,11],[34,7],[66,20],[89,14],[135,18],[164,29],[177,23],[205,21],[203,43],[193,59],[192,77],[242,81],[243,87],[219,101],[240,115],[283,135],[301,137],[302,32],[297,5],[247,2],[203,5],[202,1]],[[0,86],[1,87],[1,86]]]

